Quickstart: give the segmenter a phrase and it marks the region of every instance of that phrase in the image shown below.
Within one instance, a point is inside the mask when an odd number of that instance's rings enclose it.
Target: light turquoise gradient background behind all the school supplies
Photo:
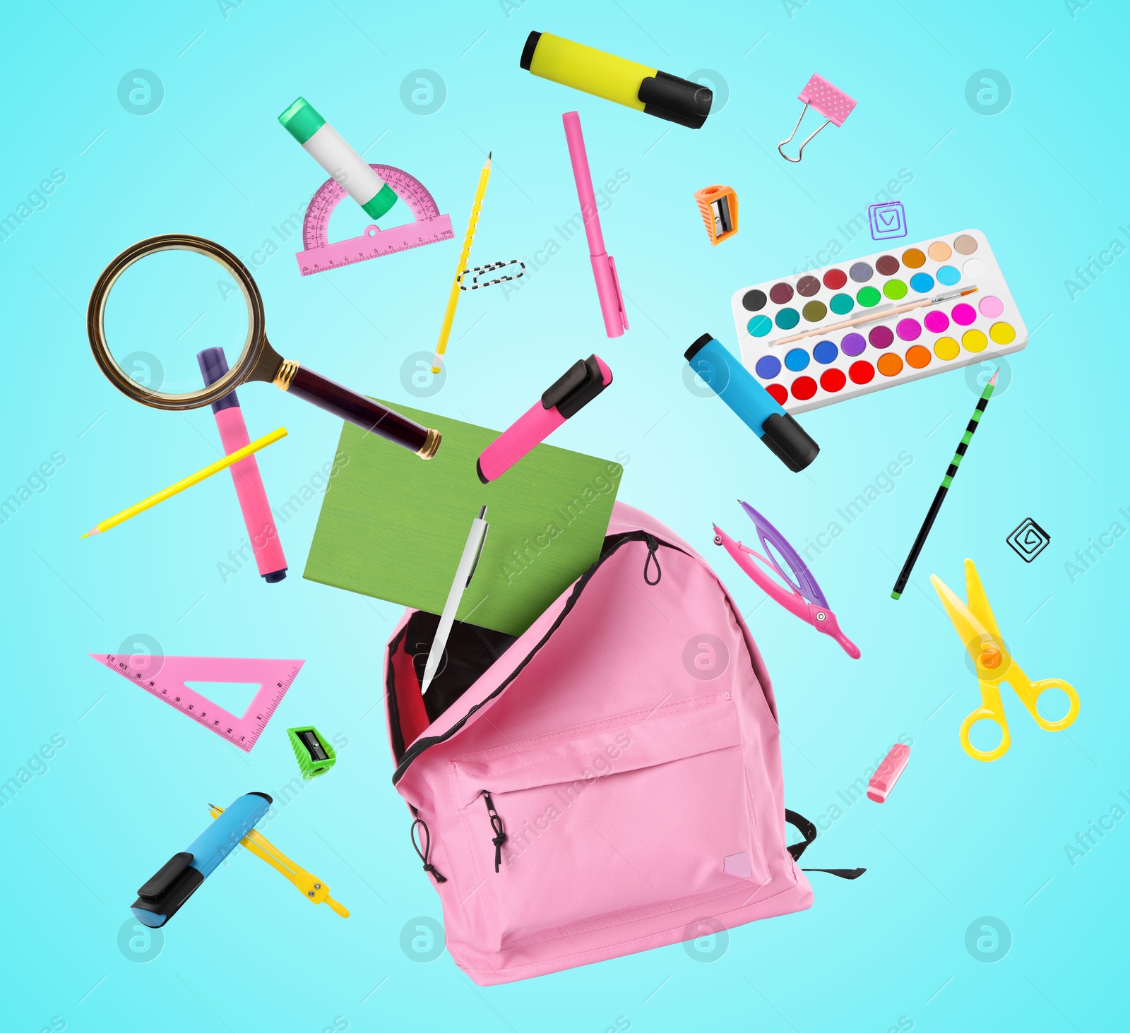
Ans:
[[[55,1015],[75,1031],[193,1033],[318,1033],[336,1016],[350,1030],[600,1031],[618,1016],[636,1030],[709,1023],[784,1033],[878,1033],[901,1016],[938,1031],[1124,1025],[1118,988],[1130,822],[1074,868],[1064,844],[1130,790],[1122,644],[1130,540],[1075,584],[1064,563],[1113,521],[1130,527],[1119,513],[1130,507],[1122,347],[1130,255],[1074,302],[1063,281],[1113,238],[1130,242],[1119,228],[1130,225],[1122,104],[1130,18],[1109,2],[1076,5],[1072,17],[1063,0],[793,7],[790,16],[779,0],[701,11],[529,0],[507,17],[492,0],[411,8],[247,0],[227,18],[206,0],[33,0],[8,9],[0,212],[52,168],[67,181],[0,244],[8,368],[0,495],[52,451],[67,461],[0,527],[0,781],[52,733],[67,746],[0,811],[6,1031],[37,1031]],[[534,79],[518,67],[533,28],[676,75],[714,69],[729,102],[692,132]],[[136,68],[155,71],[166,90],[145,118],[116,98]],[[442,110],[426,118],[400,101],[401,80],[420,68],[447,89]],[[999,69],[1014,90],[993,118],[965,101],[966,80],[983,68]],[[814,71],[859,106],[800,165],[785,166],[774,146]],[[99,375],[84,327],[90,287],[140,237],[195,233],[246,257],[301,210],[322,175],[276,123],[299,94],[358,148],[380,137],[368,159],[417,175],[457,235],[493,148],[473,252],[480,262],[532,258],[576,211],[562,112],[581,112],[598,181],[631,173],[603,218],[632,321],[618,340],[601,330],[581,237],[531,270],[510,301],[499,289],[462,300],[450,379],[432,399],[403,390],[400,366],[434,347],[452,245],[307,279],[297,276],[295,242],[284,245],[255,272],[268,332],[281,354],[370,393],[497,427],[570,363],[599,351],[616,384],[555,443],[626,451],[620,498],[690,540],[750,615],[780,704],[789,806],[826,815],[842,805],[837,790],[896,737],[913,737],[890,800],[825,822],[829,830],[806,856],[812,865],[864,865],[862,879],[814,876],[811,911],[732,930],[711,964],[676,945],[478,989],[446,954],[414,962],[401,929],[441,912],[389,781],[379,669],[399,610],[302,580],[318,503],[281,530],[290,576],[277,587],[250,567],[227,584],[217,573],[244,532],[227,477],[79,540],[96,520],[217,454],[208,409],[146,409]],[[895,604],[890,585],[976,398],[965,374],[805,415],[822,454],[793,475],[721,402],[687,390],[681,356],[706,330],[734,347],[731,293],[802,264],[899,168],[914,175],[901,194],[906,240],[982,228],[1028,327],[1040,329],[1010,357],[1011,385],[994,397]],[[711,249],[692,193],[716,182],[738,191],[740,232]],[[843,257],[873,250],[864,233]],[[332,457],[340,426],[266,384],[241,398],[252,436],[279,424],[290,431],[260,457],[278,504]],[[913,463],[895,491],[814,563],[862,649],[852,662],[781,608],[758,607],[760,592],[711,545],[711,521],[748,535],[733,502],[742,497],[803,547],[904,450]],[[1026,565],[1005,539],[1029,515],[1052,540]],[[928,581],[938,573],[960,590],[965,556],[977,562],[1028,674],[1064,677],[1083,701],[1075,726],[1051,735],[1007,694],[1012,749],[991,765],[958,746],[976,684]],[[301,657],[306,666],[243,755],[86,659],[137,633],[167,653]],[[285,729],[306,722],[349,745],[329,776],[278,807],[269,835],[324,877],[353,917],[310,906],[243,853],[169,925],[156,961],[127,961],[116,935],[137,886],[203,827],[207,801],[227,805],[252,789],[278,795],[296,774]],[[1001,919],[1014,937],[997,964],[965,947],[981,915]]]

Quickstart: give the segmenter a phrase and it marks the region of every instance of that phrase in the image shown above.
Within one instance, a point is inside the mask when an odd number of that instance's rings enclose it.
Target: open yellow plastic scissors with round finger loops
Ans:
[[[965,649],[973,658],[977,669],[977,682],[981,685],[981,705],[963,722],[959,737],[962,748],[975,761],[996,761],[1008,753],[1012,740],[1008,733],[1008,722],[1005,720],[1005,706],[1000,700],[1000,683],[1007,682],[1028,709],[1028,713],[1044,731],[1062,731],[1079,715],[1079,695],[1075,688],[1061,678],[1044,678],[1033,682],[1012,660],[1000,636],[1000,628],[992,615],[992,607],[981,587],[977,568],[972,559],[965,561],[965,593],[968,605],[955,596],[936,575],[930,575],[941,605],[960,636]],[[1058,688],[1068,698],[1068,711],[1058,721],[1049,721],[1036,710],[1040,696],[1050,688]],[[992,721],[1000,728],[1000,745],[996,749],[975,749],[970,743],[970,729],[977,721]]]

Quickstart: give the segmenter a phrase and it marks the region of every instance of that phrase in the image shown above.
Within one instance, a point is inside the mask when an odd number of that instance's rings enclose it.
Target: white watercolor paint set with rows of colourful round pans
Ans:
[[[742,364],[789,413],[1028,342],[980,229],[742,287],[731,304]]]

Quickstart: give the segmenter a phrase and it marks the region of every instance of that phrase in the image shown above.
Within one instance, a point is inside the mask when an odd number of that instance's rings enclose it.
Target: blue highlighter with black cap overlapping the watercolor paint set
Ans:
[[[805,428],[709,333],[687,348],[685,357],[690,368],[793,474],[803,470],[819,454],[820,446]]]

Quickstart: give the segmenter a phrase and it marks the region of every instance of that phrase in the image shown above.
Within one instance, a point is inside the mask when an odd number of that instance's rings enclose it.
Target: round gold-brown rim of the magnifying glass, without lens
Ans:
[[[199,391],[166,394],[145,388],[118,365],[106,342],[106,300],[110,297],[111,288],[130,266],[158,251],[194,251],[197,254],[210,258],[232,275],[247,306],[247,337],[240,358],[216,383]],[[155,409],[198,409],[219,400],[242,384],[249,379],[247,374],[255,367],[263,350],[269,347],[264,327],[263,300],[243,262],[215,241],[185,233],[164,233],[146,237],[127,248],[102,271],[90,292],[90,303],[86,310],[86,332],[98,367],[123,394]]]

